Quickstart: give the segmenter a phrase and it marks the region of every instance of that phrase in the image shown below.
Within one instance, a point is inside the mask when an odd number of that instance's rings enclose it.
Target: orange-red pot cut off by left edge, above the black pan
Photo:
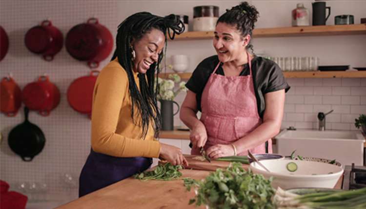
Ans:
[[[12,77],[3,77],[0,82],[1,113],[13,117],[21,105],[21,91]]]

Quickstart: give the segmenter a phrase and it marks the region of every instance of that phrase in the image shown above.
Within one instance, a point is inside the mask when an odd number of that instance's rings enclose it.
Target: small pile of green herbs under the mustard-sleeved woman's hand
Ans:
[[[143,181],[147,180],[163,180],[169,181],[173,179],[179,179],[182,173],[179,171],[183,169],[183,166],[173,166],[170,163],[157,166],[154,171],[144,171],[142,173],[135,174],[133,177]]]

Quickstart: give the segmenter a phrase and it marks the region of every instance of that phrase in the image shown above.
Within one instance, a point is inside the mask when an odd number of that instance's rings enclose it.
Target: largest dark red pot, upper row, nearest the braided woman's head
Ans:
[[[88,19],[66,35],[66,50],[75,59],[88,61],[90,68],[99,66],[99,62],[107,58],[113,48],[113,37],[109,30],[99,24],[98,19]]]

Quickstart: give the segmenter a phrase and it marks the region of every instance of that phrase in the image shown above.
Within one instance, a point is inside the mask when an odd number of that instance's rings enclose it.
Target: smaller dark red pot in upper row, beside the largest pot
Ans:
[[[63,36],[51,21],[44,20],[41,25],[28,30],[24,42],[29,51],[41,54],[45,60],[51,61],[62,48]]]

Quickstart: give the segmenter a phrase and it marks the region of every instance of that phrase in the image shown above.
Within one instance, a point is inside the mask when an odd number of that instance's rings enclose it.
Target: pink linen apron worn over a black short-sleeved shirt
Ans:
[[[249,64],[248,76],[215,74],[220,66],[219,62],[203,89],[200,120],[207,131],[205,150],[217,144],[231,144],[263,123],[258,114],[251,58],[248,53],[246,56]],[[249,150],[252,153],[265,153],[265,143]],[[268,140],[268,152],[272,153],[271,139]],[[244,151],[238,155],[247,153]],[[191,154],[200,155],[200,151],[192,149]]]

